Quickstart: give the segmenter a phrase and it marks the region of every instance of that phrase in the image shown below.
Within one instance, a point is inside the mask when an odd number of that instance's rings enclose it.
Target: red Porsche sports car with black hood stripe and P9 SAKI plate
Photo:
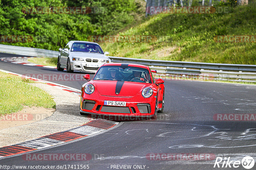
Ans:
[[[105,63],[92,80],[82,86],[81,115],[156,118],[164,110],[164,80],[153,77],[156,70],[128,63]],[[121,120],[121,119],[120,119]]]

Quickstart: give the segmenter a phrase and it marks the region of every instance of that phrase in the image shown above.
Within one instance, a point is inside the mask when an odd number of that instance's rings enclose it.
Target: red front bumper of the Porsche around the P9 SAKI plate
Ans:
[[[100,98],[100,100],[99,100]],[[104,101],[124,101],[126,106],[108,106]],[[133,97],[87,95],[82,93],[80,98],[80,112],[124,117],[152,117],[155,114],[156,97],[152,95],[144,98],[141,95]]]

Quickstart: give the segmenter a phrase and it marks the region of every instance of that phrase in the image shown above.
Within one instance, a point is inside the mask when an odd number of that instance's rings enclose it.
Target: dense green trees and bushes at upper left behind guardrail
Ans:
[[[142,15],[142,0],[0,0],[0,35],[32,36],[6,45],[58,50],[69,40],[87,40],[132,23]],[[90,7],[89,14],[24,12],[26,7]],[[144,13],[143,13],[144,15]]]

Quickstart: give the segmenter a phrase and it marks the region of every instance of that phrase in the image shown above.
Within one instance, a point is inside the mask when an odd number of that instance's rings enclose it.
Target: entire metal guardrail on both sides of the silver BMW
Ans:
[[[34,57],[58,57],[60,52],[0,44],[0,53],[12,53]],[[148,60],[113,56],[108,57],[112,62],[147,65],[151,69],[156,69],[159,74],[165,74],[171,77],[175,75],[192,75],[214,77],[218,80],[230,79],[234,81],[256,82],[256,65]]]

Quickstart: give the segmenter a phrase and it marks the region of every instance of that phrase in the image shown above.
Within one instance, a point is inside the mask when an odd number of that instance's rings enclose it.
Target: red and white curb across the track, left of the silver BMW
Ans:
[[[55,66],[44,66],[44,65],[38,65],[34,63],[28,62],[28,58],[34,58],[34,57],[3,57],[1,58],[1,61],[4,62],[10,62],[14,64],[21,64],[26,66],[37,66],[37,67],[44,67],[44,68],[57,68]]]

